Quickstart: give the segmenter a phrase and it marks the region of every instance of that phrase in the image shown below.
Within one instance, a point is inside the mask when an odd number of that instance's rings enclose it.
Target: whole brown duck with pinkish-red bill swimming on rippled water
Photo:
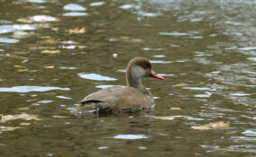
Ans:
[[[127,65],[125,76],[127,86],[112,86],[87,95],[75,104],[76,112],[131,111],[154,106],[152,94],[142,85],[142,78],[164,78],[152,70],[150,60],[134,57]]]

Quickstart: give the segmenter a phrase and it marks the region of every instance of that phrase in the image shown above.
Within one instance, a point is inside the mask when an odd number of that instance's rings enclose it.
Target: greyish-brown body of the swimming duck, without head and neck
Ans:
[[[144,95],[133,87],[114,86],[87,95],[78,102],[77,109],[99,111],[121,111],[149,108],[154,104],[151,95]]]

